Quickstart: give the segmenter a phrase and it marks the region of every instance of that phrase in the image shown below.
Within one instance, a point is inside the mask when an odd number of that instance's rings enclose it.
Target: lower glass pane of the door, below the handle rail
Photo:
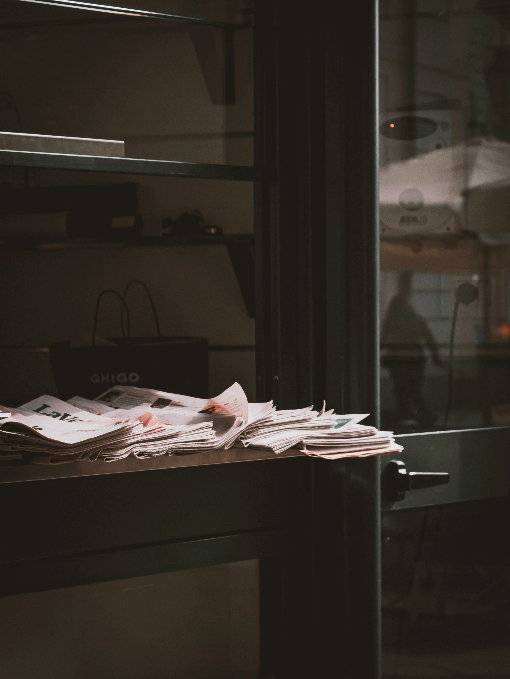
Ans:
[[[509,498],[382,514],[385,679],[510,677],[509,519]]]

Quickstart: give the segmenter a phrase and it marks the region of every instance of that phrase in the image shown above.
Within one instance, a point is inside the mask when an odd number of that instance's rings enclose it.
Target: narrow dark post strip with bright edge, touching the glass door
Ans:
[[[344,379],[349,411],[380,419],[378,0],[352,7],[342,30],[345,281]],[[345,549],[351,677],[378,678],[380,667],[380,460],[347,465]],[[363,639],[365,652],[361,652]]]

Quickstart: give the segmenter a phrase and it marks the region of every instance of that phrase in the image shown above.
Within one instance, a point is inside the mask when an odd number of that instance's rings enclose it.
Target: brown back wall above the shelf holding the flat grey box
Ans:
[[[20,131],[121,139],[131,157],[189,162],[225,162],[228,146],[228,162],[252,163],[250,141],[222,138],[253,130],[250,29],[234,33],[229,105],[218,103],[224,33],[214,26],[124,20],[1,34],[1,91],[18,105]]]

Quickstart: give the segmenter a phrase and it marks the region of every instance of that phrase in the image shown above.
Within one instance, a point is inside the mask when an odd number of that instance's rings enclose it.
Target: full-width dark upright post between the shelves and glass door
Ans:
[[[261,4],[258,394],[378,424],[377,2]],[[303,462],[281,676],[378,679],[378,460]]]

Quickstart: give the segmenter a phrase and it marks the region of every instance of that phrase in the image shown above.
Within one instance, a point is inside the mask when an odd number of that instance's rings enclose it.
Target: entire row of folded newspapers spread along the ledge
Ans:
[[[330,459],[402,449],[391,432],[359,424],[366,417],[336,415],[325,406],[317,412],[248,403],[237,382],[214,399],[115,386],[94,401],[42,396],[18,408],[0,407],[0,458],[23,453],[39,464],[113,462],[234,444],[274,453],[297,447]]]

